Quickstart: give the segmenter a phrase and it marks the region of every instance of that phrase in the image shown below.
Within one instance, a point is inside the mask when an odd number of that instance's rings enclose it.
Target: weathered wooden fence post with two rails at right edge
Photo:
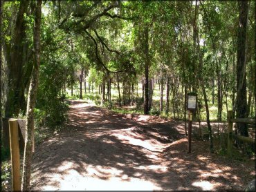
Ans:
[[[244,124],[250,124],[254,125],[255,127],[255,119],[249,119],[249,118],[237,118],[234,119],[232,117],[232,111],[228,111],[228,157],[232,157],[232,138],[236,138],[237,140],[240,140],[242,142],[247,142],[250,144],[255,144],[255,140],[250,137],[244,137],[241,135],[233,135],[233,123],[244,123]]]

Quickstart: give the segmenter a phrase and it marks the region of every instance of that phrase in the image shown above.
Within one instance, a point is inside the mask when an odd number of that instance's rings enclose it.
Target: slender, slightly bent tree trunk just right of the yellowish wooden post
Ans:
[[[35,108],[35,99],[37,97],[37,86],[38,86],[39,65],[40,65],[41,8],[42,8],[42,0],[38,0],[37,6],[35,9],[35,28],[34,28],[35,64],[33,67],[33,73],[30,79],[30,86],[28,91],[28,104],[27,104],[27,113],[26,113],[26,140],[25,140],[21,191],[28,191],[29,185],[30,185],[31,158],[33,155],[32,153],[33,153],[33,139],[34,139],[33,111]]]

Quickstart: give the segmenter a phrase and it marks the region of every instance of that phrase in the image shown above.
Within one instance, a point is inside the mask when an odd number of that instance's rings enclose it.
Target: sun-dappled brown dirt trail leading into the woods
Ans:
[[[241,190],[253,166],[186,152],[182,124],[72,101],[65,128],[36,147],[33,191]]]

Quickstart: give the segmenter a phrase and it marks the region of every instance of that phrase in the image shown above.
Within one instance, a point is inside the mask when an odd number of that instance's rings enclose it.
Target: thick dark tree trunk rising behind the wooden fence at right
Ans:
[[[237,36],[237,118],[247,115],[247,90],[246,90],[246,28],[248,19],[248,1],[238,1],[239,26]],[[248,136],[247,124],[237,123],[241,135]]]

